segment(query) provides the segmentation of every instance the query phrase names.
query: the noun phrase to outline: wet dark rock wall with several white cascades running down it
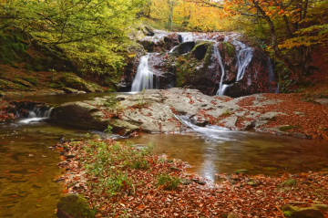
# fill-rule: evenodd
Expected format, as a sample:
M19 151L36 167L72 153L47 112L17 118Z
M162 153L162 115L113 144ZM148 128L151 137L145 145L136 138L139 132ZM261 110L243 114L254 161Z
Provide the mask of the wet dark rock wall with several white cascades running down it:
M178 36L178 46L176 36ZM196 65L198 66L194 67L197 72L204 72L205 79L201 78L201 80L200 78L196 78L196 80L200 79L200 83L195 82L192 79L187 79L187 83L185 84L186 86L189 86L189 83L192 83L190 86L199 88L201 91L204 91L204 93L209 95L229 95L231 97L239 97L242 95L259 92L277 92L277 82L274 79L270 59L269 61L263 60L263 58L265 59L267 56L263 54L261 57L259 49L249 47L241 42L239 40L241 36L238 34L174 33L173 35L173 33L159 31L158 33L155 33L155 36L147 37L150 37L151 42L154 42L154 45L158 45L159 47L163 47L163 45L174 47L171 47L170 50L167 51L166 57L164 58L159 58L159 55L154 56L154 54L159 53L149 53L147 56L141 57L137 75L133 80L131 88L132 92L138 92L144 88L159 88L159 78L161 79L160 88L169 88L169 82L176 79L174 76L177 73L175 72L177 66L175 66L174 63L169 63L173 60L173 58L167 59L167 57L179 56L181 58L178 58L178 60L183 61L185 58L182 56L190 53L190 51L193 52L190 56L192 58L195 54L201 56L201 52L206 53L206 45L210 45L206 42L212 42L211 46L213 46L209 70L204 67L204 60L202 60L202 62L196 60ZM222 41L226 43L223 45ZM191 42L194 42L194 45L190 46ZM220 46L222 47L218 47L220 43ZM201 48L201 44L204 44L205 46ZM190 47L194 47L194 49ZM233 47L234 51L232 54L230 53L230 49L233 49ZM178 48L179 52L177 52ZM220 51L221 49L219 48L222 48L222 51ZM186 52L184 52L185 50ZM220 52L223 53L220 54ZM230 57L230 54L232 54L233 57ZM224 59L222 59L222 57L224 57ZM200 60L200 57L197 58ZM253 63L255 60L257 63ZM177 61L177 59L173 61ZM186 63L189 62L186 61ZM267 65L269 65L269 67L267 67ZM169 75L169 73L171 73L171 75ZM154 75L156 79L153 78ZM193 72L191 75L193 75ZM197 77L199 77L199 75ZM214 87L207 88L207 85L203 85L206 79L209 79L211 84L216 84L215 86L219 87L216 93L213 93L215 90Z

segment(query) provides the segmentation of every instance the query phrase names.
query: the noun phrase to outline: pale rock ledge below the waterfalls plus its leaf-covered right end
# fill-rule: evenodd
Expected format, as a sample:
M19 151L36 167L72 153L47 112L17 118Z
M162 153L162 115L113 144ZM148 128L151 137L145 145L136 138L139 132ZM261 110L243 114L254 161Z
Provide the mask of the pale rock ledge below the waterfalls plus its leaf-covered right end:
M140 130L187 130L191 125L181 120L179 116L183 115L190 124L200 127L216 125L230 130L320 138L327 132L325 114L327 104L305 102L298 95L254 94L231 99L207 96L196 89L170 88L65 103L53 110L51 121L96 130L110 125L115 132L128 135ZM310 120L315 123L307 132Z

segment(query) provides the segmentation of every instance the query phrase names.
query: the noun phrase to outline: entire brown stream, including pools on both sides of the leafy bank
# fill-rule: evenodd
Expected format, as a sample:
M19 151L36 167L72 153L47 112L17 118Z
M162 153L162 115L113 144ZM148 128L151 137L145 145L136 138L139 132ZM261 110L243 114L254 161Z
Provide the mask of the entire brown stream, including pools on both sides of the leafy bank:
M28 97L48 104L92 99L109 95L90 93ZM16 99L18 100L18 99ZM186 123L186 125L189 125ZM328 171L328 146L324 140L305 140L259 132L242 132L209 126L181 134L142 134L130 140L139 146L155 143L154 154L187 161L196 172L215 181L215 173L241 169L251 174L279 175L284 172ZM56 217L56 202L63 183L55 182L62 171L57 151L60 138L86 139L92 131L36 122L0 125L0 217Z

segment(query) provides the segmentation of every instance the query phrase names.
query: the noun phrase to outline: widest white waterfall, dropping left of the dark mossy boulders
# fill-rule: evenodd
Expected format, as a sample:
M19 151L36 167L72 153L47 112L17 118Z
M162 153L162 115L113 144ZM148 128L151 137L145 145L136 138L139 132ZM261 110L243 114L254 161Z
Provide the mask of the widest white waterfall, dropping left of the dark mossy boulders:
M149 54L140 58L137 75L133 79L132 92L141 91L143 88L153 88L153 73L149 70Z

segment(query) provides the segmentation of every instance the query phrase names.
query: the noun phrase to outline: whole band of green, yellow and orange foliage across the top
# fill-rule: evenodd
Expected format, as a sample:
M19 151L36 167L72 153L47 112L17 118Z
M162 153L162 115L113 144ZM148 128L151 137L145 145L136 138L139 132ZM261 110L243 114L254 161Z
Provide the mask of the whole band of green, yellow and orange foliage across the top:
M118 81L139 20L169 31L243 33L297 81L312 73L313 48L328 42L328 0L0 0L0 31L16 28L60 48L83 75L113 72L108 83Z

